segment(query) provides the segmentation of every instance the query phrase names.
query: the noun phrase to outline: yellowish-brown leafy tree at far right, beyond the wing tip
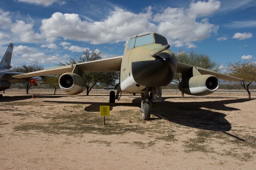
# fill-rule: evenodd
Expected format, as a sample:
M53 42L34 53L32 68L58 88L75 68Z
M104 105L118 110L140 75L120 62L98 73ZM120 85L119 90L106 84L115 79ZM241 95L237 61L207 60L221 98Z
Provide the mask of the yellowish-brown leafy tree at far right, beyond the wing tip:
M228 63L227 71L229 75L241 78L243 81L240 82L241 86L248 93L248 98L251 98L251 93L249 91L249 86L253 82L256 82L256 63L255 62L237 62Z

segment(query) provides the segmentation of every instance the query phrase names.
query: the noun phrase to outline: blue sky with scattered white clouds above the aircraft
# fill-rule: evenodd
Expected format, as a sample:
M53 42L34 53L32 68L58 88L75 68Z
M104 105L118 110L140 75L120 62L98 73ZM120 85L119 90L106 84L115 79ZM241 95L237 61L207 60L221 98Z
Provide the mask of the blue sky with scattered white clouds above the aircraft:
M55 67L96 49L123 55L141 32L165 36L174 53L191 50L226 63L256 62L256 0L0 0L0 56L14 43L12 66Z

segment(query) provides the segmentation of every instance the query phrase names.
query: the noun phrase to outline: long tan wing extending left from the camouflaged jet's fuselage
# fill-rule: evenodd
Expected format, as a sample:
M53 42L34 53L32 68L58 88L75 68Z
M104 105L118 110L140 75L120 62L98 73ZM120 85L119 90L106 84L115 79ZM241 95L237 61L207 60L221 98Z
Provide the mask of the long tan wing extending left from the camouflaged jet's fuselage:
M67 65L55 67L51 69L39 70L36 72L15 75L14 78L28 78L34 76L57 75L72 72L77 66L80 71L84 72L117 72L120 71L123 56L111 57L107 59L93 60L90 62L78 63L74 65Z

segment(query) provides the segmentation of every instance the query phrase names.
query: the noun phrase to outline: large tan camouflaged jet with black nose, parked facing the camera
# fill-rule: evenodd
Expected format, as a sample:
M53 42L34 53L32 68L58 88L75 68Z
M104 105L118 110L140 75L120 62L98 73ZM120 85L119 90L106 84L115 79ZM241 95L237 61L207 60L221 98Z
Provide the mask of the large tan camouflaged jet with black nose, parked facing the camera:
M119 92L140 93L144 120L150 120L151 104L161 101L161 89L172 82L176 73L182 73L179 90L189 95L208 95L215 92L219 87L219 79L242 81L240 78L177 62L175 54L169 50L169 47L166 38L162 35L145 32L134 35L127 41L123 56L55 67L13 77L62 74L59 78L61 89L67 94L79 94L86 88L86 82L81 76L82 72L119 71L120 83L117 95L114 97L118 98Z

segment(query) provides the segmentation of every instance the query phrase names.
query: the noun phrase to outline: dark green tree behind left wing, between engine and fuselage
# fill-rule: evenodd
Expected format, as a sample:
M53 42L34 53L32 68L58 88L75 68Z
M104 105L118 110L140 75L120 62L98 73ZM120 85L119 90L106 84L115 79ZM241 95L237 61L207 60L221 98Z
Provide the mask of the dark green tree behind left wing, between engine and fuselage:
M65 66L68 64L99 60L101 59L101 52L98 52L96 49L93 51L86 50L83 54L80 54L77 57L67 59L64 62L59 62L58 65ZM89 95L89 92L97 83L101 85L114 85L115 81L118 79L118 76L118 72L84 72L83 78L86 81L86 95Z

